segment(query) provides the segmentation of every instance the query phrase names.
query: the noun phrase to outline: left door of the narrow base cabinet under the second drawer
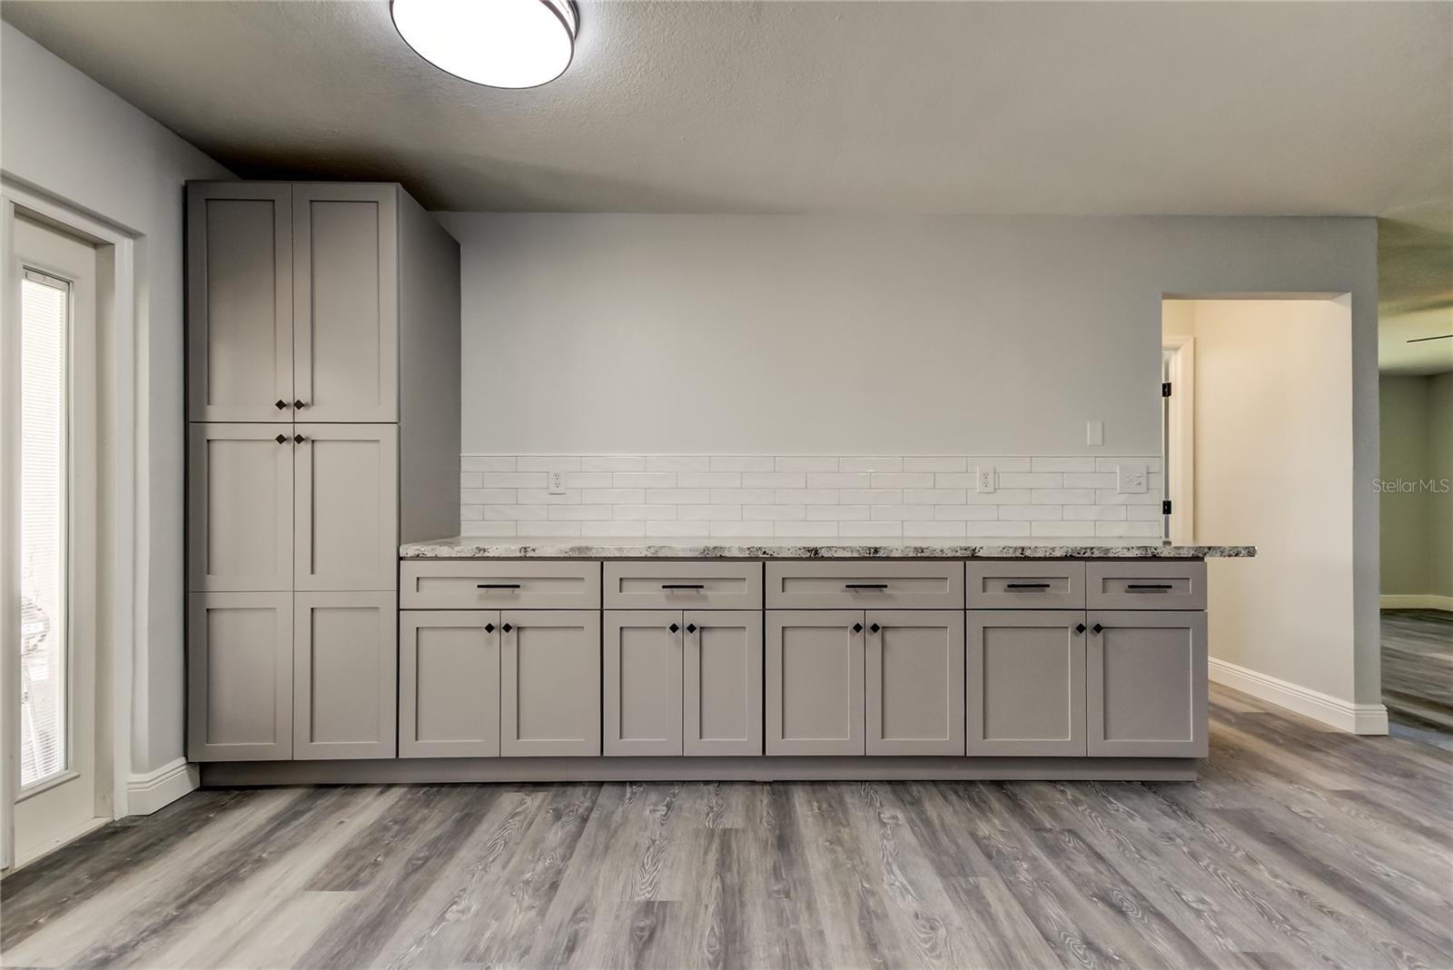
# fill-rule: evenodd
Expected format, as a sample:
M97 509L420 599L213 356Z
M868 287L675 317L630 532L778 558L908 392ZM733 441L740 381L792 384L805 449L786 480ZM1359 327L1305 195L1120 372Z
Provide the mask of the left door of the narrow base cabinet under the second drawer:
M681 614L606 610L604 617L604 754L681 754Z

